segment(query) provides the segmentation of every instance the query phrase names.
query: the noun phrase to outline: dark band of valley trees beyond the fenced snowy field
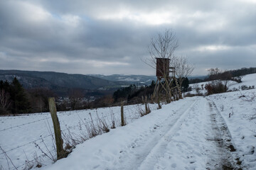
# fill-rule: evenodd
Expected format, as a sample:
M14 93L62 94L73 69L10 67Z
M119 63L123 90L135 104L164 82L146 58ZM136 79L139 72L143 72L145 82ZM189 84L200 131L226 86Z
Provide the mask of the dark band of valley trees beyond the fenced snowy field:
M188 84L188 78L183 78L181 90L189 91ZM142 103L143 97L151 98L155 86L155 81L152 81L149 86L131 84L117 89L112 94L96 98L95 101L84 101L83 91L70 89L69 96L56 100L56 106L58 111L70 111L115 106L120 101L127 101L129 104ZM0 115L48 112L49 97L57 98L49 89L24 89L16 78L11 82L0 81Z

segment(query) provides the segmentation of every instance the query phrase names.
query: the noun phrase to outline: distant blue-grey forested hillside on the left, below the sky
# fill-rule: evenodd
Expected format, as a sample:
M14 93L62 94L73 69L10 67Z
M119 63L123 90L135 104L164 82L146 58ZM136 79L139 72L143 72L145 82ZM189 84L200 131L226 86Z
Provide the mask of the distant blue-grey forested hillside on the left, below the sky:
M46 87L48 89L80 88L92 90L122 85L120 82L82 74L0 70L0 80L12 81L14 77L16 77L26 89Z

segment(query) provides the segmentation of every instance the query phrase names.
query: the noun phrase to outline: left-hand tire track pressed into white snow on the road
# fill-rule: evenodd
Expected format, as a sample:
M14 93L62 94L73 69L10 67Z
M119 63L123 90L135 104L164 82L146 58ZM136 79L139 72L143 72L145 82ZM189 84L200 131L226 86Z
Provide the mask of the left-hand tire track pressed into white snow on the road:
M157 157L160 154L164 154L171 137L180 128L187 113L193 108L196 102L192 101L181 106L179 108L181 113L176 113L178 116L170 116L170 119L166 119L160 128L156 128L154 136L145 137L140 141L135 140L132 144L131 151L135 153L135 157L127 158L128 160L121 162L122 167L119 169L154 169L154 165L158 162Z

